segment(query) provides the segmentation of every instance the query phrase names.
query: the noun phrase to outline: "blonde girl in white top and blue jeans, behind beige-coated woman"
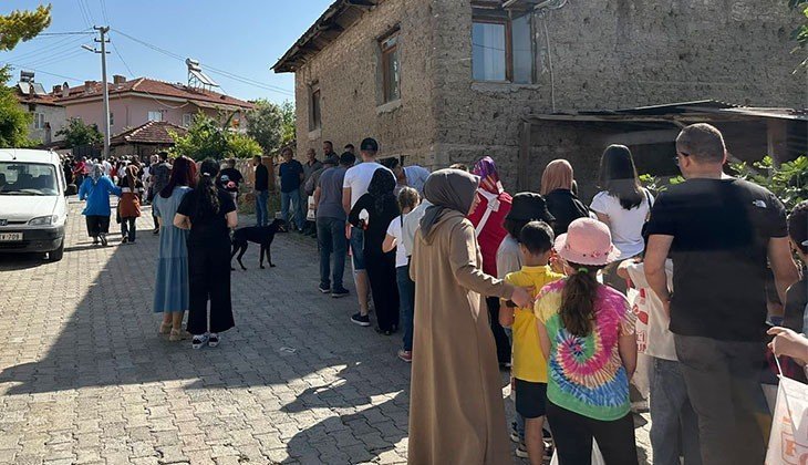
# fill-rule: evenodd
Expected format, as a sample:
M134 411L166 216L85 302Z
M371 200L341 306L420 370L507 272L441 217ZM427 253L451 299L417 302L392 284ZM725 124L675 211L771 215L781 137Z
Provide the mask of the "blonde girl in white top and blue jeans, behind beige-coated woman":
M398 208L401 215L390 221L387 236L382 249L389 252L395 249L395 276L398 283L398 307L401 309L402 328L404 329L404 347L398 351L398 358L407 363L413 361L413 317L415 310L415 282L410 279L410 250L404 248L402 226L410 211L418 206L418 192L412 187L404 187L398 193Z

